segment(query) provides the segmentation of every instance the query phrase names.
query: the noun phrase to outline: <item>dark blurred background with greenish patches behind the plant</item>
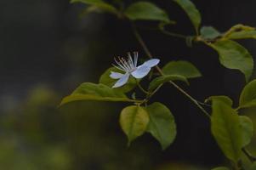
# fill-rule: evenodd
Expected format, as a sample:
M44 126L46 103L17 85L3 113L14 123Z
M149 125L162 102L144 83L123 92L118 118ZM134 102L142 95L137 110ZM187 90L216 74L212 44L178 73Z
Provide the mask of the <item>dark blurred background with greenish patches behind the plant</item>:
M176 4L152 2L177 21L168 29L193 34ZM204 26L219 31L239 23L256 26L253 0L193 2ZM176 119L178 135L167 150L148 134L127 147L118 123L124 104L80 102L57 108L82 82L98 82L113 57L139 51L145 58L126 21L111 14L81 16L85 7L68 0L0 0L0 169L204 170L229 164L210 135L208 119L169 86L153 99L168 105ZM186 59L202 72L190 87L180 84L196 99L225 94L237 103L244 77L219 65L212 49L202 43L188 48L182 39L146 29L152 27L148 22L137 24L161 66ZM256 56L255 41L242 44ZM246 113L255 124L255 111ZM256 137L249 146L254 154L255 146Z

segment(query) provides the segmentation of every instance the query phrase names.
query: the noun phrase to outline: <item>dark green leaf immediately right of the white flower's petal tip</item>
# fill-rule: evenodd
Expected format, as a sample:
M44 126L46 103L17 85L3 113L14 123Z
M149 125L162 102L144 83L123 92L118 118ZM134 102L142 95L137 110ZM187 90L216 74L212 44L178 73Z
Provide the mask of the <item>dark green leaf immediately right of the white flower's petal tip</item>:
M184 60L168 62L168 64L162 68L162 72L165 75L179 75L186 78L202 77L202 74L196 69L196 66Z

